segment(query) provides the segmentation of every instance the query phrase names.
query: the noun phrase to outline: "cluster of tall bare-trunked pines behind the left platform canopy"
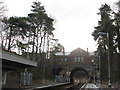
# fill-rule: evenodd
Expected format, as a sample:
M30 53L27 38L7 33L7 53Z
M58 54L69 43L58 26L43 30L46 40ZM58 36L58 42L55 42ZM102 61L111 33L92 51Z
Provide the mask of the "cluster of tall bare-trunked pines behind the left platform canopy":
M39 1L33 2L31 13L27 17L4 18L2 28L2 47L8 51L17 50L20 55L30 55L38 60L41 53L50 55L54 48L54 19L48 16ZM56 46L57 47L57 46ZM59 46L58 46L59 47ZM41 54L42 55L42 54Z

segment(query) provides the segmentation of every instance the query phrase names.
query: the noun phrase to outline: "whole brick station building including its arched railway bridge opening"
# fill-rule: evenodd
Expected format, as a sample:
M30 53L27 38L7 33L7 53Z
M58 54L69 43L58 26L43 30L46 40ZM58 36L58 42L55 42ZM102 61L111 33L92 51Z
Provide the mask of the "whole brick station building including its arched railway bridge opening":
M67 77L70 82L78 82L81 79L89 80L94 70L98 70L98 58L90 55L88 51L77 48L70 53L57 53L55 58L56 76ZM86 80L86 79L85 79ZM85 81L82 80L82 81Z

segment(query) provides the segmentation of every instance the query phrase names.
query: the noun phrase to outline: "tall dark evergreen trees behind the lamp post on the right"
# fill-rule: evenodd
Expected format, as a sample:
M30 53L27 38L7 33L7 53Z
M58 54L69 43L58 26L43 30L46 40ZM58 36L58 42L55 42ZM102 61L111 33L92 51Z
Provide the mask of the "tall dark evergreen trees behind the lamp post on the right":
M101 5L99 8L101 19L98 21L98 26L94 27L95 30L92 33L94 40L97 42L98 48L97 53L100 56L100 67L101 67L101 79L108 80L108 52L110 55L110 67L111 67L111 77L114 81L118 77L118 73L114 73L113 65L114 59L113 57L120 53L120 27L118 24L118 15L115 17L116 14L113 12L111 7L107 4ZM118 14L118 13L117 13ZM117 23L116 23L117 22ZM101 35L100 33L104 33ZM107 37L109 34L109 37ZM116 79L117 80L117 79Z

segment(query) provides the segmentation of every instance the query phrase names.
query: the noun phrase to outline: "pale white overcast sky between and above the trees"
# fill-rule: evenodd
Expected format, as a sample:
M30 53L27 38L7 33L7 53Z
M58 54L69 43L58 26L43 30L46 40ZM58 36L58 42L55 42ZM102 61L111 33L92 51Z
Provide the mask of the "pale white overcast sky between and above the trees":
M35 0L4 0L8 17L27 16ZM95 51L97 46L92 32L100 16L97 15L102 4L113 7L117 0L37 0L45 7L46 13L56 20L55 38L59 39L66 52L76 48Z

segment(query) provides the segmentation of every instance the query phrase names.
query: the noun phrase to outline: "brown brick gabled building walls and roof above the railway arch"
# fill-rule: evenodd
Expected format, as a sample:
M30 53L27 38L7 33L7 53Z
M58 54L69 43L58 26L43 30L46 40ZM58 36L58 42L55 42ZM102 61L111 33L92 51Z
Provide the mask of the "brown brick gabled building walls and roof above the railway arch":
M70 53L56 53L55 55L55 65L56 67L63 68L67 72L68 69L72 72L75 68L82 68L90 74L91 68L98 68L98 57L96 55L91 55L88 50L85 51L81 48L77 48ZM58 70L56 70L58 71Z

